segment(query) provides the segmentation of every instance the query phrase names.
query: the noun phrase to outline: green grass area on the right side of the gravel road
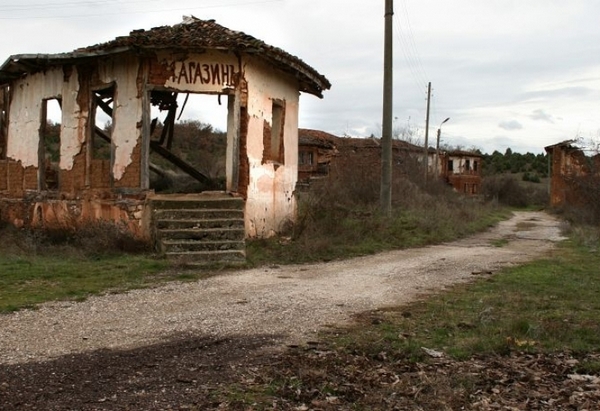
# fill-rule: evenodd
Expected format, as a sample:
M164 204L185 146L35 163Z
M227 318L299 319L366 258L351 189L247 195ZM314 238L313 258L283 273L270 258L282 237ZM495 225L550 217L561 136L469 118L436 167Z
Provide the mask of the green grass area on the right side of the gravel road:
M425 357L421 347L456 359L514 351L597 352L599 266L599 253L567 242L552 258L385 311L378 325L355 329L337 344L413 360Z

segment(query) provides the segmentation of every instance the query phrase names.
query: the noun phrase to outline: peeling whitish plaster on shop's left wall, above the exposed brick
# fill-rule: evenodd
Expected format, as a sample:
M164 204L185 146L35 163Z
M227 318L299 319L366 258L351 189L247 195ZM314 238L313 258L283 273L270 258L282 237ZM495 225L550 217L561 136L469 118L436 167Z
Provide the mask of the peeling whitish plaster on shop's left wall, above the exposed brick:
M138 66L131 58L97 60L97 71L90 76L90 89L116 84L113 114L115 158L113 177L120 180L132 163L134 149L141 142L142 99L138 91ZM38 167L39 130L43 101L62 100L61 170L71 170L75 158L86 143L90 116L90 96L82 96L78 67L63 71L62 67L29 75L14 83L10 107L7 157L20 161L23 167ZM92 80L93 79L93 80ZM85 104L82 104L85 103ZM102 126L102 125L98 125Z

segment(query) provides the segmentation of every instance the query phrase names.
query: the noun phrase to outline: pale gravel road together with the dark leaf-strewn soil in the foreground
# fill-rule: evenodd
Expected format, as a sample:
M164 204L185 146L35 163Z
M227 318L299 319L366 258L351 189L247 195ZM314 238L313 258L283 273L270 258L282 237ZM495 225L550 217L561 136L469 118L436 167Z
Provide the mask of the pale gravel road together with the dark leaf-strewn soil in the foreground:
M317 340L316 331L328 326L368 324L377 321L378 308L393 310L550 253L561 239L558 225L544 213L517 213L487 233L441 246L235 272L204 280L215 282L200 289L183 285L185 293L172 285L131 293L126 301L107 295L1 316L0 409L599 409L600 379L575 373L580 361L598 358L516 355L412 363L340 353ZM493 247L497 240L506 244ZM240 309L219 307L207 292ZM189 293L193 303L182 297ZM163 312L152 300L149 309L127 314L129 299L148 304L151 297L170 303ZM210 311L210 321L190 317L208 305L221 313ZM177 327L160 325L174 315L183 319ZM146 317L155 320L152 330ZM98 334L99 324L104 333ZM209 332L212 324L218 332ZM294 384L299 377L302 386ZM272 392L253 394L257 387Z

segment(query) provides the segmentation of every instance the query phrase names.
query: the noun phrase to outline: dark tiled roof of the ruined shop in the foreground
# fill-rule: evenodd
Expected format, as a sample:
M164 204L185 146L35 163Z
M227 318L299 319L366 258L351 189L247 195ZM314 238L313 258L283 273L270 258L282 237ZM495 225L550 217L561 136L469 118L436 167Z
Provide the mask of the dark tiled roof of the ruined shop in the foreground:
M251 54L293 75L299 82L300 91L322 97L323 91L331 88L331 84L325 76L298 57L241 31L223 27L214 20L200 20L195 17L184 17L183 22L174 26L134 30L128 36L80 48L71 53L11 56L0 67L0 84L6 84L28 73L35 73L51 66L83 58L125 51L144 52L159 49L185 51L210 49Z

